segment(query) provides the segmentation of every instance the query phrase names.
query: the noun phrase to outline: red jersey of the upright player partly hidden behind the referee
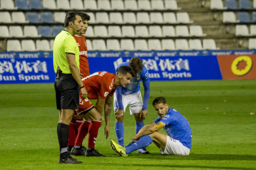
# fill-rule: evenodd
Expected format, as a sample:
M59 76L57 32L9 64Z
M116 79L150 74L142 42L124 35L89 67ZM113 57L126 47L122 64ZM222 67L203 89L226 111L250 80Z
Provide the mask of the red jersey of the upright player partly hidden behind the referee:
M89 62L87 58L87 43L84 35L78 36L74 35L75 41L77 41L77 46L79 46L79 62L80 62L80 73L87 77L90 75L89 72Z

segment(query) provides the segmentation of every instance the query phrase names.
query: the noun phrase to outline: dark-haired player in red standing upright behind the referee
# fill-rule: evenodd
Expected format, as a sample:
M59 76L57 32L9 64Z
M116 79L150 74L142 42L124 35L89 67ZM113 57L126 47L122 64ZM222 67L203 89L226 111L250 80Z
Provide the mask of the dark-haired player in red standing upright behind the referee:
M78 34L74 35L74 38L75 41L77 41L77 46L79 47L80 76L81 78L85 78L90 75L90 72L87 58L87 42L83 34L85 34L87 31L90 16L85 12L79 12L79 15L82 18L83 27ZM77 116L77 118L73 116L72 120L70 121L69 142L67 147L68 152L70 152L75 145L75 137L77 136L78 129L82 123L83 118L81 116ZM85 150L85 148L83 148L83 150Z

